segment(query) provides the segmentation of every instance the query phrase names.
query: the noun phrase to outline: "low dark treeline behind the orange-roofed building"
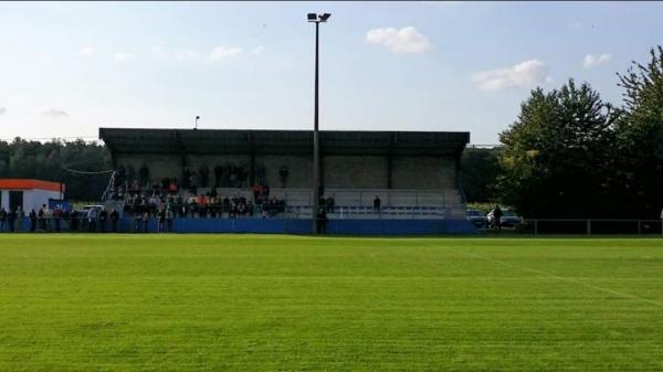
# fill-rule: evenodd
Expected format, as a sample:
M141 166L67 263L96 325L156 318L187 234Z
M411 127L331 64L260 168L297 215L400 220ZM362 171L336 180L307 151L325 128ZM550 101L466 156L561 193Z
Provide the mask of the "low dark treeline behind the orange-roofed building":
M0 140L0 178L64 182L70 200L99 200L110 174L77 171L97 172L110 168L110 155L101 144L82 139L40 142L18 137L11 142Z

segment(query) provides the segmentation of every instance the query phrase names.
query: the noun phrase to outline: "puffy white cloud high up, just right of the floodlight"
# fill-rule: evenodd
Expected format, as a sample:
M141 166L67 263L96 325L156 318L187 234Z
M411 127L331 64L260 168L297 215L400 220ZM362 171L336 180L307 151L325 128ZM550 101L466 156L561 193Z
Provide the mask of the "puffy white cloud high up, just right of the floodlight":
M402 29L371 29L366 41L387 47L393 53L422 54L429 51L431 43L417 29L409 25Z

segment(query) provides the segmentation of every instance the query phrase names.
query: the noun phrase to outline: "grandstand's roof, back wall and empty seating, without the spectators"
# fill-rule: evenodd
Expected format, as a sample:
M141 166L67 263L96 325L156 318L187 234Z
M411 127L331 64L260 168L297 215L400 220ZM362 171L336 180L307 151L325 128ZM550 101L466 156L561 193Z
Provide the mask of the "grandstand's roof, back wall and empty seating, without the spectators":
M220 199L249 201L252 188L263 183L269 198L285 204L277 217L312 219L311 131L101 128L99 138L116 169L154 183L177 179L182 199L191 191L185 184L189 178L196 194L213 190ZM464 221L457 172L469 140L469 132L320 131L324 199L333 201L326 205L329 220ZM228 169L238 176L229 179ZM373 209L376 196L379 210Z

